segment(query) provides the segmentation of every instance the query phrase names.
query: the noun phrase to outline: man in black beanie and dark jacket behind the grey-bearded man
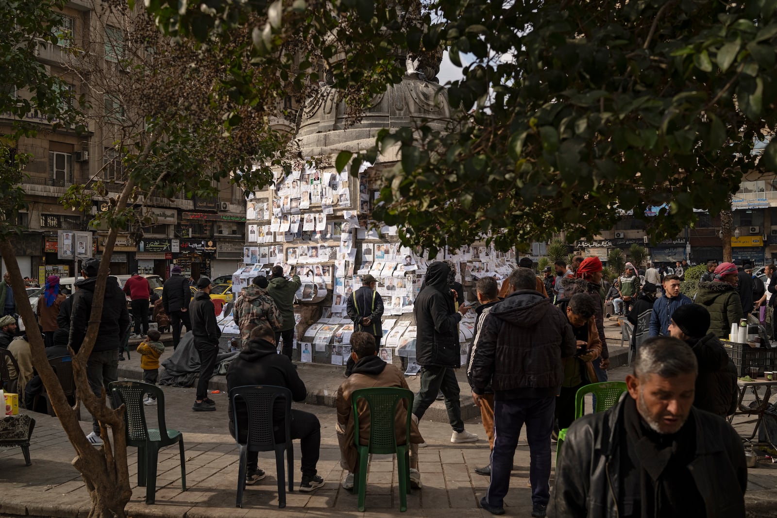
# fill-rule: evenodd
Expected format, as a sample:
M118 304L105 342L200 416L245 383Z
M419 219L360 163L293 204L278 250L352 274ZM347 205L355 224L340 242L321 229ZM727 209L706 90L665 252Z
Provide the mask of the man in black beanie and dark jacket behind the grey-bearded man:
M726 417L737 408L737 367L708 329L709 311L699 304L686 304L672 313L669 334L691 346L699 363L693 405Z

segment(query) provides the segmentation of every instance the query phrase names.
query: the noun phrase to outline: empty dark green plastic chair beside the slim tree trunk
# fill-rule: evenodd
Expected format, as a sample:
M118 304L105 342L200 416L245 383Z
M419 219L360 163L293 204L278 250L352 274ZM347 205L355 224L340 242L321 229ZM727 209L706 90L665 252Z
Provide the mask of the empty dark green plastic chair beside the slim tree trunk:
M155 385L140 381L113 381L108 385L114 407L124 403L127 419L127 446L138 447L138 485L146 486L146 503L156 501L156 464L159 448L178 443L181 450L181 487L186 491L186 457L183 433L165 426L165 393ZM143 396L156 398L159 428L148 428Z

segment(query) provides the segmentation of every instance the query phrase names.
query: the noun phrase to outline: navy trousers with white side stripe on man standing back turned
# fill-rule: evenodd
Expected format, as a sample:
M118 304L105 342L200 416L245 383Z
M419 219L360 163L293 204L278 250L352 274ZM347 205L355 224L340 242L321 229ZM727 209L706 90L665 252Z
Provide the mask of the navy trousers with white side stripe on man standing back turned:
M550 499L550 433L556 396L549 398L505 399L493 404L493 450L491 482L486 502L501 507L510 488L510 471L521 428L526 425L529 443L531 503L547 506Z

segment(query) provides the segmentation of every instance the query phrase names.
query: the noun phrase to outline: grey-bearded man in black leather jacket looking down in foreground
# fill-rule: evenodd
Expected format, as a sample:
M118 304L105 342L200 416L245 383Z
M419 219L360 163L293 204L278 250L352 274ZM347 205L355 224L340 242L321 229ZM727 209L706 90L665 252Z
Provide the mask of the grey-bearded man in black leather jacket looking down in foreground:
M697 371L684 342L643 342L629 393L566 433L549 516L744 516L742 441L693 406Z

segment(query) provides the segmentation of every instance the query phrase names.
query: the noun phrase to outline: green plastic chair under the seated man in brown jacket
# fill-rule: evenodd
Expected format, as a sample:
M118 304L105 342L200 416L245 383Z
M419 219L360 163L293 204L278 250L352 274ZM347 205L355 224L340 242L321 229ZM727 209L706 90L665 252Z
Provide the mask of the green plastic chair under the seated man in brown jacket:
M370 440L368 445L359 441L359 400L364 399L370 412ZM397 405L406 402L405 444L396 443L394 420ZM364 495L367 489L369 454L396 454L399 471L399 511L407 510L407 493L410 491L410 408L413 408L413 392L406 388L360 388L351 395L351 412L354 412L354 442L358 452L359 471L354 476L354 492L359 494L359 511L364 512ZM364 405L362 405L364 408Z

